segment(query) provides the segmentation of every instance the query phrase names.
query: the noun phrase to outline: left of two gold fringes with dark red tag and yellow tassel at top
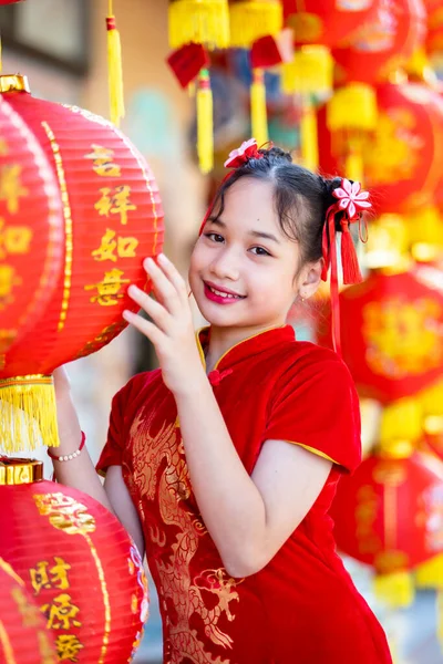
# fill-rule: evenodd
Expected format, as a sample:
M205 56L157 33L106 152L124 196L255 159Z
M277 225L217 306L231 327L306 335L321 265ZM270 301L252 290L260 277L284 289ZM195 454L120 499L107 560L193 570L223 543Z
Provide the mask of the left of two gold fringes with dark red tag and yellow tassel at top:
M168 20L175 50L169 65L182 86L197 82L197 154L207 174L214 167L214 105L206 49L229 45L228 0L169 0Z

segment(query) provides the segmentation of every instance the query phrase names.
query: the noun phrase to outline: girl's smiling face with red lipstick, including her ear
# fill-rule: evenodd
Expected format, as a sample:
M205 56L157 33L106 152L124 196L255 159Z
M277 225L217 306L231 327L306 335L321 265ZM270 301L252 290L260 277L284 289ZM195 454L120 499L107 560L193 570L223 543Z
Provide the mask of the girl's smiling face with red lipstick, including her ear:
M202 314L216 328L282 325L297 294L309 297L320 280L320 261L299 270L299 255L298 242L280 228L271 183L240 178L190 259L189 283Z

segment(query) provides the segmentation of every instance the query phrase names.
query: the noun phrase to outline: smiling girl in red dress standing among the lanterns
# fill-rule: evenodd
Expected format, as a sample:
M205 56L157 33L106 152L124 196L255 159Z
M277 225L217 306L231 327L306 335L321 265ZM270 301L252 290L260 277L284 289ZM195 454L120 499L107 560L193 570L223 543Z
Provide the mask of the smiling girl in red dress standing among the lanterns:
M332 245L322 245L326 219L347 228L347 203L332 195L341 180L290 162L254 142L228 160L192 256L209 322L197 338L186 283L164 256L145 262L155 300L130 288L152 322L124 317L161 369L114 397L104 489L85 450L54 460L58 479L112 509L146 552L165 663L391 662L328 517L341 474L360 461L352 380L336 353L285 324L318 288ZM51 455L72 456L81 430L62 371L55 385L61 448Z

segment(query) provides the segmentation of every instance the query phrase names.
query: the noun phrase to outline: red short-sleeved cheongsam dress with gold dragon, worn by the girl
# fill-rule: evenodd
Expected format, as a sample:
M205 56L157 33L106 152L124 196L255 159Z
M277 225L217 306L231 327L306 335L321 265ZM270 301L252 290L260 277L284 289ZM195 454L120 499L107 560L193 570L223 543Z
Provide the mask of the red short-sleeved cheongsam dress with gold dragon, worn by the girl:
M208 334L199 333L200 350ZM159 595L165 664L390 663L383 630L336 553L328 516L340 475L352 471L361 454L347 367L331 351L296 341L286 325L235 345L209 381L249 474L267 439L334 464L267 567L233 579L195 500L174 396L161 371L133 377L116 394L97 467L122 466L138 511Z

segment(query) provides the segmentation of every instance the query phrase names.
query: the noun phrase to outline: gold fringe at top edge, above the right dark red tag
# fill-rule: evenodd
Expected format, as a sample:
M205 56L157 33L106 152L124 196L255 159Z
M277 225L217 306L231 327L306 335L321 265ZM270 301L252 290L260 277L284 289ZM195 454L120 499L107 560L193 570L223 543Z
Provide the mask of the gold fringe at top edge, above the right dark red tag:
M229 6L230 45L250 49L260 37L277 35L284 27L282 6L278 0L245 0Z

